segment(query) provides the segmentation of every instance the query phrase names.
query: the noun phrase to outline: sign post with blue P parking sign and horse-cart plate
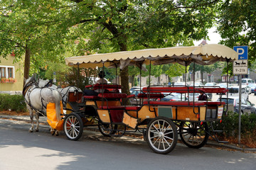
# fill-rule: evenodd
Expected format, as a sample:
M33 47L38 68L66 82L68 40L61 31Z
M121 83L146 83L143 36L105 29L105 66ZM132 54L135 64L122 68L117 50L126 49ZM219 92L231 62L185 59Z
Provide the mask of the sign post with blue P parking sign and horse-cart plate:
M239 119L238 119L238 143L241 141L241 89L242 74L248 74L248 46L235 46L233 48L238 52L238 60L233 62L233 74L239 74Z

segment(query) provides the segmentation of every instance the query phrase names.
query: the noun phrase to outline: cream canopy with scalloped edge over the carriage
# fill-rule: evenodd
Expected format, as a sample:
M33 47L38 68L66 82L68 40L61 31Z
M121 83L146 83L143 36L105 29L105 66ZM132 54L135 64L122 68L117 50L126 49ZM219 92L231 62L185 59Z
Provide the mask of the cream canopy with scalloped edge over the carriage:
M198 64L209 65L221 61L238 60L238 53L225 45L203 45L193 47L166 47L135 51L112 52L95 55L84 55L77 57L68 57L65 63L69 66L79 64L79 67L120 67L127 65L141 64L168 64L177 62L187 66L195 61Z

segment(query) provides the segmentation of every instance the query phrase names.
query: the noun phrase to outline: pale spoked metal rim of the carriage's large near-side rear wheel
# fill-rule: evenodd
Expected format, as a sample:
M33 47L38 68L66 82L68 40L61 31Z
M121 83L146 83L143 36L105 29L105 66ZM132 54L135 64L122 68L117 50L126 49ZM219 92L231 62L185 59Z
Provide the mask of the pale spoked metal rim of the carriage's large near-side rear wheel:
M151 147L158 152L164 152L174 145L174 130L166 120L155 120L151 123L147 135Z

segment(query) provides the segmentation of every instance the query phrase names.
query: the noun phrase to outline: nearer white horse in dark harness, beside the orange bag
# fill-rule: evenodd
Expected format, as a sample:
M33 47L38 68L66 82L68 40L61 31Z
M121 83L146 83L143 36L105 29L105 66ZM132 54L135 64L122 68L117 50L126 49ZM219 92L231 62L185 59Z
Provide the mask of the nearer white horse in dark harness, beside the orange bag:
M42 86L42 85L41 85ZM56 118L60 120L60 101L62 96L57 89L52 87L39 87L36 82L35 75L30 79L26 80L26 84L23 89L23 96L26 101L28 111L31 118L31 128L28 132L33 132L33 111L36 112L36 132L39 128L39 113L46 115L46 105L47 103L55 103ZM58 130L50 129L53 135L58 135Z

